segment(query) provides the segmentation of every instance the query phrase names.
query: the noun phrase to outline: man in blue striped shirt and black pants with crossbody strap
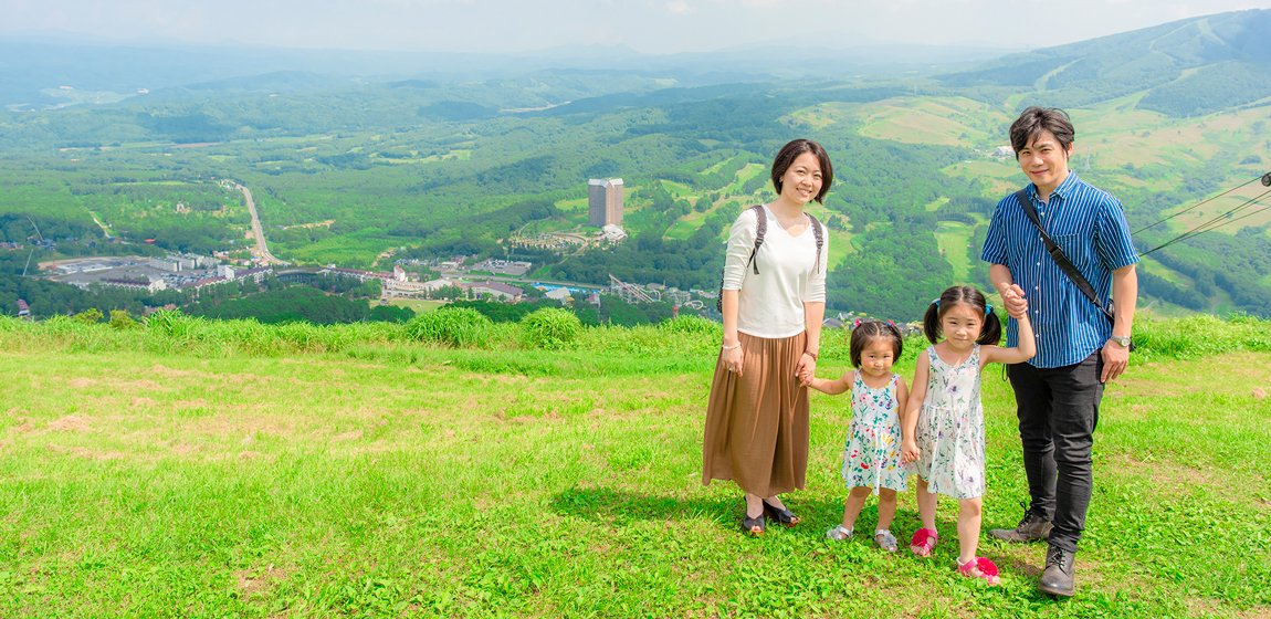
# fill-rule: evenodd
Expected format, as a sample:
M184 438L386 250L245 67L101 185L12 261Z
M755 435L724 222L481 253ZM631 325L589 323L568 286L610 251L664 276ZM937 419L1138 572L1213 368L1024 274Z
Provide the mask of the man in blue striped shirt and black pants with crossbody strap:
M1073 561L1091 502L1091 447L1103 384L1129 365L1139 296L1139 254L1121 203L1069 169L1074 137L1073 123L1060 109L1031 107L1010 126L1016 160L1031 180L1024 193L1038 221L1104 306L1111 287L1115 320L1050 257L1016 194L998 202L981 254L1007 309L1022 310L1027 300L1037 338L1037 356L1008 369L1031 503L1017 527L989 535L1049 540L1038 588L1065 597L1077 590ZM1010 320L1007 346L1017 346L1017 337Z

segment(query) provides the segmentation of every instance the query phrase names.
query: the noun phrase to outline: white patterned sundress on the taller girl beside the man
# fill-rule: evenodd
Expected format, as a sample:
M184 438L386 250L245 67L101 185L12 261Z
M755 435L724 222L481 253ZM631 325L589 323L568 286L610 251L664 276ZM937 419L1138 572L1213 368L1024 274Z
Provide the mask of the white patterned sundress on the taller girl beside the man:
M928 491L955 498L984 496L984 407L980 404L980 346L951 366L927 348L930 371L914 439L916 473Z

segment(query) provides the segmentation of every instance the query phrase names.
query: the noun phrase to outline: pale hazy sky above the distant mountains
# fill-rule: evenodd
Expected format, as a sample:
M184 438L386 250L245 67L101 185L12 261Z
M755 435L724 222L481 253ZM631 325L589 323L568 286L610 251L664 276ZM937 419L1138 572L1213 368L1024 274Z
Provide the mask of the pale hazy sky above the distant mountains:
M0 37L491 53L801 42L1033 50L1242 9L1271 0L0 0Z

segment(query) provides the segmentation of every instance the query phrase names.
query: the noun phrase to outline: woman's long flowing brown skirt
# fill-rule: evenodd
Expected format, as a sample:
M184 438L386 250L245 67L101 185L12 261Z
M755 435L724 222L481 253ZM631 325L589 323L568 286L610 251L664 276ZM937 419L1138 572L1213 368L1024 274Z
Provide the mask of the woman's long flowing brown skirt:
M702 484L732 479L744 492L770 497L802 489L807 474L808 399L794 371L807 333L782 339L738 334L741 376L716 360Z

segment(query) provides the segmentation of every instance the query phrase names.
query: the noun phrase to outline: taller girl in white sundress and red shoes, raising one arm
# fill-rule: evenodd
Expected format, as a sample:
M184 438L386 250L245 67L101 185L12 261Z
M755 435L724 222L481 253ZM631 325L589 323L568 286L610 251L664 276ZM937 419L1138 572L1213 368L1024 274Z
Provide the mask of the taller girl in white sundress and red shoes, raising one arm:
M1014 292L1007 292L1014 294ZM984 408L980 371L985 364L1022 364L1037 353L1027 304L1012 318L1019 325L1019 346L1002 348L1002 323L984 295L953 286L932 301L923 330L933 343L918 356L914 390L904 416L904 460L914 463L918 514L923 527L910 550L930 555L935 548L935 498L958 500L958 572L998 583L998 566L976 557L984 496ZM943 336L943 339L941 337Z

